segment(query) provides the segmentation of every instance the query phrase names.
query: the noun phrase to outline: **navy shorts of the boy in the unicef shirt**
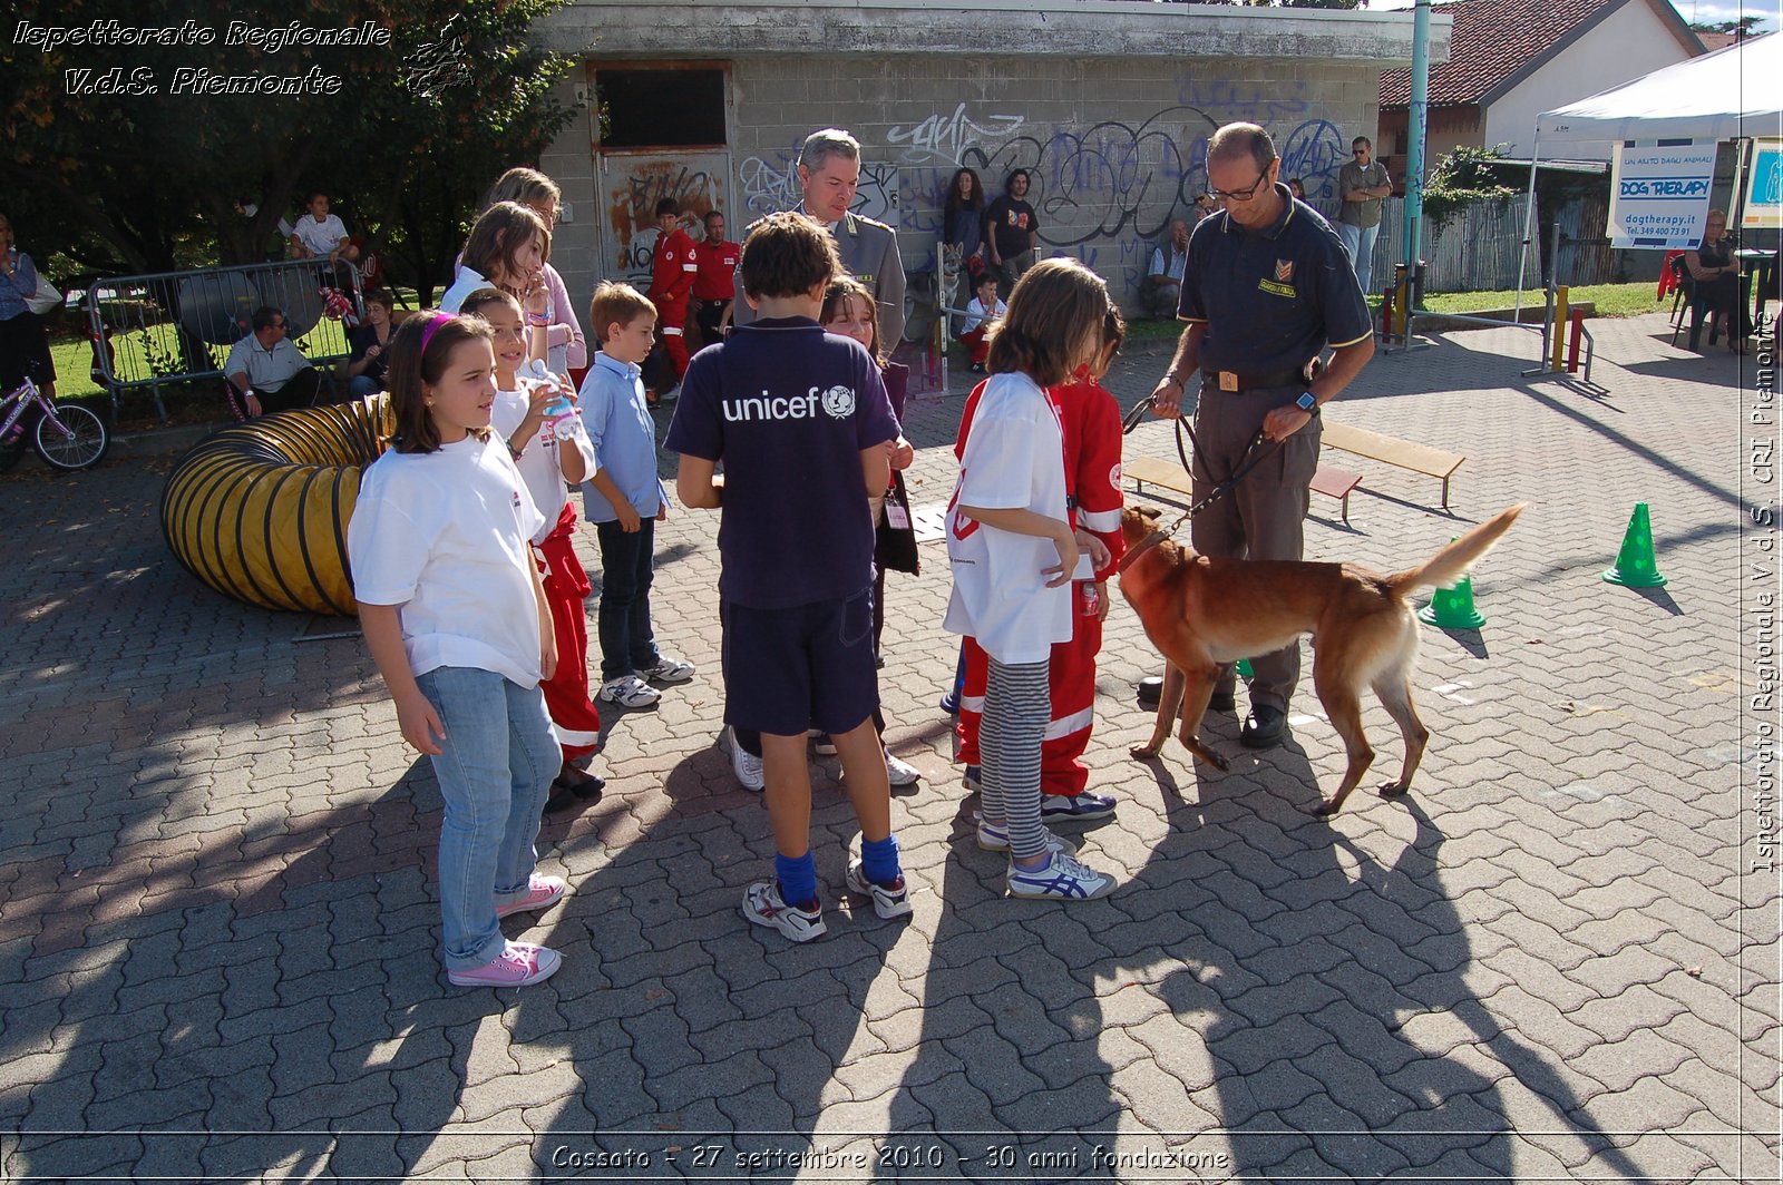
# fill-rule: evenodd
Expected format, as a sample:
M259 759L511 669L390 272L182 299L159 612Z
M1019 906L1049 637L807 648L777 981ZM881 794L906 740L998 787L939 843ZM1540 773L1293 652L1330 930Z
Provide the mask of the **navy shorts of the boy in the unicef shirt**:
M788 609L724 602L724 722L770 736L849 732L879 707L874 590Z

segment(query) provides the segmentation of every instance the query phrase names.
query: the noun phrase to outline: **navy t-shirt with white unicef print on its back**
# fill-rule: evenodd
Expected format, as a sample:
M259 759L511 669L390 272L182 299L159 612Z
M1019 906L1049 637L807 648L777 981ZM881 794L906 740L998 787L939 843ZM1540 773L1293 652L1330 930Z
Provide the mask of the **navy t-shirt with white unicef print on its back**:
M872 356L809 317L735 326L699 351L663 447L724 462L719 595L786 609L872 584L861 453L897 435Z

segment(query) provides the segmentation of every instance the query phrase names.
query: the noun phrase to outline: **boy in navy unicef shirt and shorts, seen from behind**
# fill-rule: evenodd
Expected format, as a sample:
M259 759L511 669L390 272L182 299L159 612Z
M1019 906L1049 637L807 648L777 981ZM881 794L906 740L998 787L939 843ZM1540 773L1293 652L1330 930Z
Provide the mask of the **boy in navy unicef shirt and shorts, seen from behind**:
M749 886L744 916L795 943L824 934L811 859L806 729L836 741L861 859L847 886L881 918L911 912L892 836L892 788L874 729L874 520L899 435L879 367L817 323L842 269L802 214L765 217L744 242L744 299L758 321L694 358L663 447L676 492L722 510L719 602L724 722L761 732L776 877ZM717 474L724 462L724 474Z

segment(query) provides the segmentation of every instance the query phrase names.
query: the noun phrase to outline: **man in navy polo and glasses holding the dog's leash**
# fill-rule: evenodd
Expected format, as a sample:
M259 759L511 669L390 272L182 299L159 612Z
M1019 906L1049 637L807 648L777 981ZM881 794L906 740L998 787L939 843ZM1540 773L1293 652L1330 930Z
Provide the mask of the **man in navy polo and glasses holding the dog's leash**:
M1269 134L1228 123L1207 144L1207 182L1221 212L1189 237L1177 317L1187 321L1177 356L1152 392L1155 415L1173 417L1189 376L1202 372L1195 412L1195 499L1245 463L1252 440L1280 440L1191 526L1195 551L1237 560L1300 560L1302 520L1319 465L1319 405L1337 397L1375 355L1362 287L1337 232L1278 184L1282 162ZM1334 353L1307 383L1309 364ZM1300 642L1252 658L1250 748L1282 741L1287 702L1300 679ZM1220 672L1211 709L1234 707L1234 672Z

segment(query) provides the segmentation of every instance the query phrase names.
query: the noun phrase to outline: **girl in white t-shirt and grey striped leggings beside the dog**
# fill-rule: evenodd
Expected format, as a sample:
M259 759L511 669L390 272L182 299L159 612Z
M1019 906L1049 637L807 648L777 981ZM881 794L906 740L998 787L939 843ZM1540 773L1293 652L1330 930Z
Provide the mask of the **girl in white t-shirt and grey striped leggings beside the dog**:
M970 634L990 656L979 845L1009 850L1011 896L1084 900L1114 887L1039 821L1052 643L1072 636L1080 552L1097 568L1107 563L1102 542L1066 519L1064 438L1045 387L1097 356L1107 310L1107 287L1077 260L1045 260L1016 282L990 335L991 378L947 513L954 593L943 625Z

